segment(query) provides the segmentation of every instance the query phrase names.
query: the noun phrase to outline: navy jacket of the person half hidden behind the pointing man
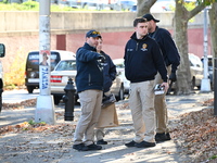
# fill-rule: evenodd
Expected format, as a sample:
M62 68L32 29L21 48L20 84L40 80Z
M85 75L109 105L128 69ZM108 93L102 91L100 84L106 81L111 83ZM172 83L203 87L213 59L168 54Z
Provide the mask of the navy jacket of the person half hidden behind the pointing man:
M116 66L113 63L110 55L107 55L103 51L101 51L100 53L105 57L105 63L103 66L103 77L104 77L103 78L104 79L104 84L103 84L104 90L103 91L107 92L107 91L110 91L113 80L116 78L117 72L116 72Z

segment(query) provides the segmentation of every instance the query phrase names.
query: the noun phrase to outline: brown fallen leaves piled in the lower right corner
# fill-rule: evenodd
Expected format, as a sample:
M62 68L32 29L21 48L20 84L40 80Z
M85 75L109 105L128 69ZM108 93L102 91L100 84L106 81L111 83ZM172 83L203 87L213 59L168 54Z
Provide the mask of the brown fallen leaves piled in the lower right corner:
M186 113L180 115L177 123L171 134L183 148L183 154L193 155L194 162L217 154L217 117L214 116L214 109Z

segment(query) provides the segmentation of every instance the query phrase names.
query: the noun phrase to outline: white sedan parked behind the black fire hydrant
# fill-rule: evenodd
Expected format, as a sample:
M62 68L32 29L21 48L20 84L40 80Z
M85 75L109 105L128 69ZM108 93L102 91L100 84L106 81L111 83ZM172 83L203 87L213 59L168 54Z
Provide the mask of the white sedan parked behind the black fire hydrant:
M63 60L51 72L51 95L53 95L54 104L59 104L65 93L64 88L67 85L68 78L72 78L75 85L76 74L76 60ZM124 87L118 76L112 85L111 92L115 95L116 100L124 99ZM77 100L78 96L76 93L75 102Z

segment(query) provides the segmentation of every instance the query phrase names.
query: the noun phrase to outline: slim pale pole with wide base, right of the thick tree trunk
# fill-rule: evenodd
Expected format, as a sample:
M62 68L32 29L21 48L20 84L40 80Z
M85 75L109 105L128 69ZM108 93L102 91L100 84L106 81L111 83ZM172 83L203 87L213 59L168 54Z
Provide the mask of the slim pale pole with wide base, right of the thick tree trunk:
M208 78L208 39L207 39L207 8L204 9L204 77L201 82L201 91L210 91L210 79Z

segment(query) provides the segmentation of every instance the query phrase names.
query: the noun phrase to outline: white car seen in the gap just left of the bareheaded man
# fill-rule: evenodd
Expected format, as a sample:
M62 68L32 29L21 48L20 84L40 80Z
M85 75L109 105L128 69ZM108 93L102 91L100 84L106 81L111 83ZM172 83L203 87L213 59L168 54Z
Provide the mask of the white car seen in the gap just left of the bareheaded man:
M124 59L114 59L113 63L116 65L117 74L122 79L125 93L129 93L130 82L125 77Z

